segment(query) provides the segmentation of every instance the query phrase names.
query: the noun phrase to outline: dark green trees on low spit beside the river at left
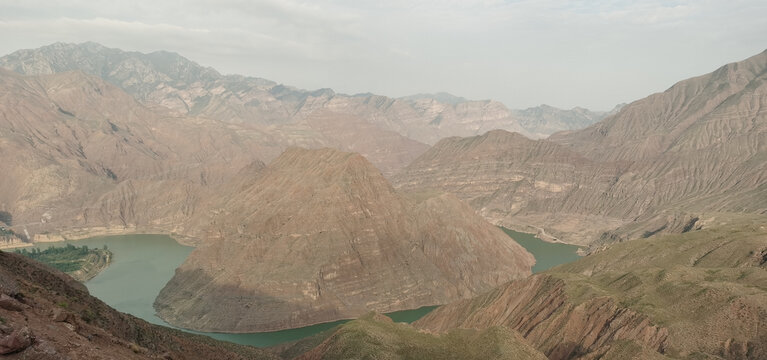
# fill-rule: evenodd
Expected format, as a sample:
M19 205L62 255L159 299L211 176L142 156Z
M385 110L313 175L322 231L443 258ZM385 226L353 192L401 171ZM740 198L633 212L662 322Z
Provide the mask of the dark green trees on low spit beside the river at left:
M111 258L112 253L106 249L89 249L87 246L77 247L67 244L64 247L49 247L45 250L33 248L21 249L16 253L35 259L65 273L75 273L91 267L94 263L103 263Z

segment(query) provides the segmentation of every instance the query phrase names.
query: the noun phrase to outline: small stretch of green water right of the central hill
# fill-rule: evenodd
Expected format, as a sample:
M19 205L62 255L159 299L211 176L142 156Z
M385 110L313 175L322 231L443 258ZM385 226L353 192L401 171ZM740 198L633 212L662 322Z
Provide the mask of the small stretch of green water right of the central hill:
M522 245L522 247L533 254L535 257L533 274L551 269L557 265L573 262L580 258L577 253L578 246L550 243L535 237L533 234L522 233L503 227L501 229L519 245Z

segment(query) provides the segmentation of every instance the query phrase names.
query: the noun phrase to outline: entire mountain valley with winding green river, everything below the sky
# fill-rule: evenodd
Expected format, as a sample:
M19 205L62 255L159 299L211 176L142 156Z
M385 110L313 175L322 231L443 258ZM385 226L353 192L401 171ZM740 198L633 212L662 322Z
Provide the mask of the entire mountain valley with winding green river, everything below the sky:
M19 50L0 247L66 248L0 252L0 352L767 358L765 109L767 51L602 112Z

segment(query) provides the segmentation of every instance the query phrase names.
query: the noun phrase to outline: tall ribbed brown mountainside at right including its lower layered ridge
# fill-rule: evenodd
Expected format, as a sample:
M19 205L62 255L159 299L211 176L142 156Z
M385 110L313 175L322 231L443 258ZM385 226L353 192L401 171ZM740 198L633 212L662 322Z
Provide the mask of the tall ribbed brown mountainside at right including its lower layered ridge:
M394 182L580 244L689 230L711 212L765 213L766 70L764 52L545 141L446 139Z

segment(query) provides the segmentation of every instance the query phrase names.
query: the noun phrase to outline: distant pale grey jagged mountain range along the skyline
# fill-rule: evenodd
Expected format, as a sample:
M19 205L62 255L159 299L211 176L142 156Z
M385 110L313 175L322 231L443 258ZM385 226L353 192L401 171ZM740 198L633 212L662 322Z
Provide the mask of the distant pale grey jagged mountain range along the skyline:
M0 58L0 67L28 75L80 70L117 85L144 105L167 108L175 115L254 126L279 139L281 150L287 146L334 144L334 139L325 137L327 133L313 131L311 124L304 121L314 111L351 116L356 120L349 123L335 120L338 123L335 128L351 128L369 137L381 131L390 132L386 137L398 134L421 143L402 147L397 143L405 140L395 139L394 143L386 144L384 151L408 150L408 157L396 162L392 173L423 152L423 144L434 144L443 137L472 136L492 129L548 136L557 130L583 127L600 116L585 109L551 107L545 111L513 111L497 101L470 101L444 93L393 99L372 94L349 96L330 89L306 91L260 78L222 75L175 53L125 52L96 43L56 43L19 50ZM361 122L365 124L357 128ZM364 148L353 145L344 142L341 148L366 153ZM379 161L371 154L369 159L389 174L390 169L384 164L392 162L392 158Z

